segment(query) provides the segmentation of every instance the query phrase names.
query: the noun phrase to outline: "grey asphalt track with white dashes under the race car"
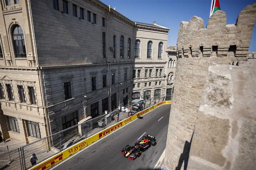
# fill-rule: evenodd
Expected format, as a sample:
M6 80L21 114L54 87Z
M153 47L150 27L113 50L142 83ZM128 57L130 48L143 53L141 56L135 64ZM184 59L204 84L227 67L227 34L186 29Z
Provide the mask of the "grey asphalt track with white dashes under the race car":
M163 104L155 108L50 169L153 169L165 149L170 107L171 104ZM134 146L139 138L141 140L147 134L156 137L156 146L142 152L134 161L122 155L126 145Z

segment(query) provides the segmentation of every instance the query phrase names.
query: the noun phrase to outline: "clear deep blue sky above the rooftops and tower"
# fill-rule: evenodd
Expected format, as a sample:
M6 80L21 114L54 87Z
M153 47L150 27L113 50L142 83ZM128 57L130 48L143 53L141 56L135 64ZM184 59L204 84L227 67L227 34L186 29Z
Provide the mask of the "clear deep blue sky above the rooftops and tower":
M193 16L204 20L206 28L211 8L211 0L100 0L111 8L116 7L123 16L132 21L169 28L167 46L176 45L181 21L189 21ZM227 14L227 24L235 24L240 11L256 0L219 0L220 10ZM256 52L256 25L254 24L248 52Z

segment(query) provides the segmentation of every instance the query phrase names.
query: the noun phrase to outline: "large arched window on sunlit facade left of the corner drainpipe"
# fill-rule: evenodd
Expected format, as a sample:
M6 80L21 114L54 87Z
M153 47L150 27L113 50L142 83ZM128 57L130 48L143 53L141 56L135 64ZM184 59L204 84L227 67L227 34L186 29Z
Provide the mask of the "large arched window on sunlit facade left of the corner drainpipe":
M16 25L13 28L13 44L17 58L26 58L26 48L22 28Z

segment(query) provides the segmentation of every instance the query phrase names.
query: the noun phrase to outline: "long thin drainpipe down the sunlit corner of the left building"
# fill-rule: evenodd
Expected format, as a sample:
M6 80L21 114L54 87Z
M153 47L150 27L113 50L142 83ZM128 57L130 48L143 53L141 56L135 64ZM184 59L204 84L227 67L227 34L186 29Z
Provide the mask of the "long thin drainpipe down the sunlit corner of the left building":
M28 1L29 2L29 10L31 11L31 4L30 4L30 1ZM31 12L32 13L32 12ZM41 70L40 70L40 67L38 66L38 58L37 58L37 49L36 49L36 42L35 42L35 31L34 31L34 24L33 24L33 17L32 17L32 14L30 13L30 18L31 18L31 25L32 25L32 30L33 30L33 34L31 33L31 36L32 37L34 37L34 44L35 44L35 54L36 54L36 56L35 56L35 59L36 59L36 63L35 63L35 65L36 65L36 67L37 67L37 70L38 70L38 73L39 73L39 84L40 84L40 88L41 88L41 97L42 97L42 104L43 104L43 107L44 107L44 112L45 112L45 120L46 120L46 126L47 126L47 131L48 131L48 136L50 136L51 135L51 130L50 130L50 127L49 127L49 114L47 113L47 111L46 111L46 107L45 107L45 103L46 103L46 97L44 96L44 93L43 93L43 91L44 91L44 88L43 88L43 86L42 86L42 80L43 80L43 78L42 78L42 74L41 74ZM31 32L32 32L32 30L31 30Z

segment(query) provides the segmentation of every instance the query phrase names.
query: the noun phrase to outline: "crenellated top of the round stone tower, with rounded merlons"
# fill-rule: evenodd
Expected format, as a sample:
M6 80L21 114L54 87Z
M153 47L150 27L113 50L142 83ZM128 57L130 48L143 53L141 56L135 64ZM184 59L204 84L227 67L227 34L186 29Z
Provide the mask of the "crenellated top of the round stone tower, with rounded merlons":
M245 60L251 42L256 15L256 3L248 5L239 14L236 24L227 25L227 15L218 10L208 20L192 17L180 23L177 51L178 57L239 57ZM214 53L213 53L214 52ZM244 57L244 58L243 58Z

